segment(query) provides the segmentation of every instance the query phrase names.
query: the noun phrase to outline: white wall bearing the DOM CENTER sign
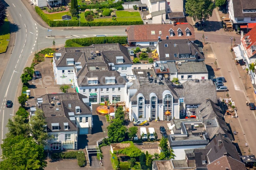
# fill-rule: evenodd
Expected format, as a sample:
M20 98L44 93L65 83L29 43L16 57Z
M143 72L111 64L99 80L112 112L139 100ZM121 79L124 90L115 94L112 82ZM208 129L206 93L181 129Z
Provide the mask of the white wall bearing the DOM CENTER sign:
M56 71L56 81L57 84L71 84L71 79L74 78L74 67L55 67ZM64 73L62 73L62 70L65 70ZM68 72L68 70L73 70L72 72Z

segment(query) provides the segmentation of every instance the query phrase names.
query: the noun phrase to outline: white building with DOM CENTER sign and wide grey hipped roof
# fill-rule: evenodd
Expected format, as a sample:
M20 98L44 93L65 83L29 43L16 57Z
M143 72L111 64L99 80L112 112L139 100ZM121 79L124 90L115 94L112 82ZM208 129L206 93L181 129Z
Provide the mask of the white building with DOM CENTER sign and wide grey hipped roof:
M121 44L93 44L88 47L62 48L54 53L53 70L57 84L72 84L78 70L90 63L105 65L105 70L116 70L132 75L132 61L126 47ZM97 64L90 71L98 70Z

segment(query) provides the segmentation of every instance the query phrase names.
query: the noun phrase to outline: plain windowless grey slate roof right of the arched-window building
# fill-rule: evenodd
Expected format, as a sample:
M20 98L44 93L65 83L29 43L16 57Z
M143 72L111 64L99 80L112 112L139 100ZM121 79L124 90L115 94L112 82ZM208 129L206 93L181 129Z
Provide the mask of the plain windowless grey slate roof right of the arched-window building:
M217 102L217 92L211 80L188 80L183 83L183 89L174 89L179 96L185 97L186 104L201 104L206 99Z

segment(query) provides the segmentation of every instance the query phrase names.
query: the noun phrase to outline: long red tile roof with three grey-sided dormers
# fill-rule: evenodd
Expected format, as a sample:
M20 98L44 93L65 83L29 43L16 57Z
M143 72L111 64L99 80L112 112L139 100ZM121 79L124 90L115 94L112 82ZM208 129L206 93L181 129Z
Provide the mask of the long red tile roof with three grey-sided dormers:
M178 29L182 30L182 36L178 36ZM190 36L186 36L186 29L190 30ZM174 31L174 36L170 37L169 30ZM145 41L157 41L158 36L161 39L166 39L166 36L169 36L169 40L172 39L188 39L195 40L195 29L189 23L176 24L175 26L171 24L149 24L149 25L132 25L126 28L126 33L128 37L128 42L145 42ZM155 31L155 34L152 35L151 31ZM159 34L161 31L162 34Z

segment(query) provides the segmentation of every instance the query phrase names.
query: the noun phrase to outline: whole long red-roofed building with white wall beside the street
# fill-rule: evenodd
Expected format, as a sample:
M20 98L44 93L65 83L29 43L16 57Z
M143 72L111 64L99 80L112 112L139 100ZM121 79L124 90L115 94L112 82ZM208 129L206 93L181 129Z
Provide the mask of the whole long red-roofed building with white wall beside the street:
M181 34L179 33L181 30ZM188 39L195 41L195 29L189 23L131 25L125 29L129 46L152 46L155 48L158 38L168 40Z

